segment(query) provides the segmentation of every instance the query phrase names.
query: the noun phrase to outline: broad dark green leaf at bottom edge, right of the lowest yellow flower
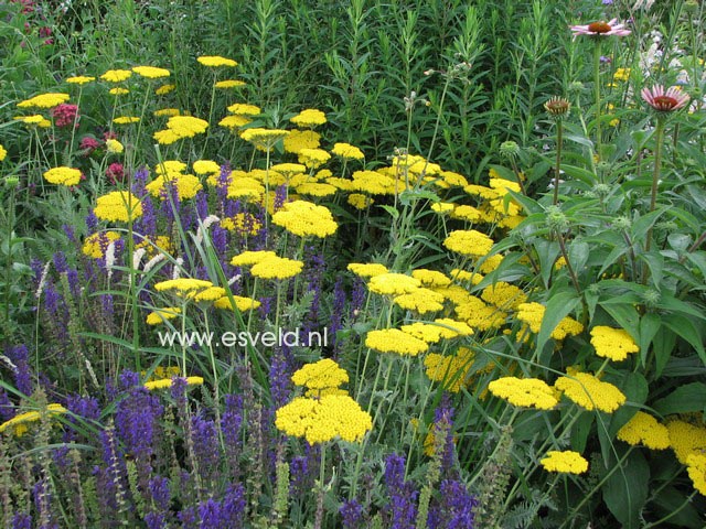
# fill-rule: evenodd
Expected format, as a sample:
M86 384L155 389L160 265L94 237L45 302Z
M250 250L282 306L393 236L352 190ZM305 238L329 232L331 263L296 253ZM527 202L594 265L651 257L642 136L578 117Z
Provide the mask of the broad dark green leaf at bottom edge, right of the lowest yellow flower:
M624 456L631 447L616 446L619 456ZM638 529L640 514L648 499L650 467L642 452L632 450L620 467L617 461L609 462L608 477L603 488L603 500L623 529Z

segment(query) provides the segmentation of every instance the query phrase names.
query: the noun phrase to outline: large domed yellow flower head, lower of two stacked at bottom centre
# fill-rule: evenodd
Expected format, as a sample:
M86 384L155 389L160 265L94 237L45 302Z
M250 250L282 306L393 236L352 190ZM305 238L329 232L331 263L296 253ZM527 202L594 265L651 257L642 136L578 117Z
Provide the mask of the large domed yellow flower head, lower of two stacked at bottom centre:
M275 425L313 445L336 438L361 441L373 428L373 419L351 397L325 395L320 399L297 397L277 410Z

